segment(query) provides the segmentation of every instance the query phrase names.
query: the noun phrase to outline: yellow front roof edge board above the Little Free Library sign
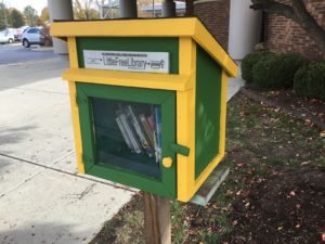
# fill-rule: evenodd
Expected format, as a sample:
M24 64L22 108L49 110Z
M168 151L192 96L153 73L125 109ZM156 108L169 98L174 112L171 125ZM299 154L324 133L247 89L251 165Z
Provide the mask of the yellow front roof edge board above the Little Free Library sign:
M186 37L194 35L195 17L53 22L53 37Z

